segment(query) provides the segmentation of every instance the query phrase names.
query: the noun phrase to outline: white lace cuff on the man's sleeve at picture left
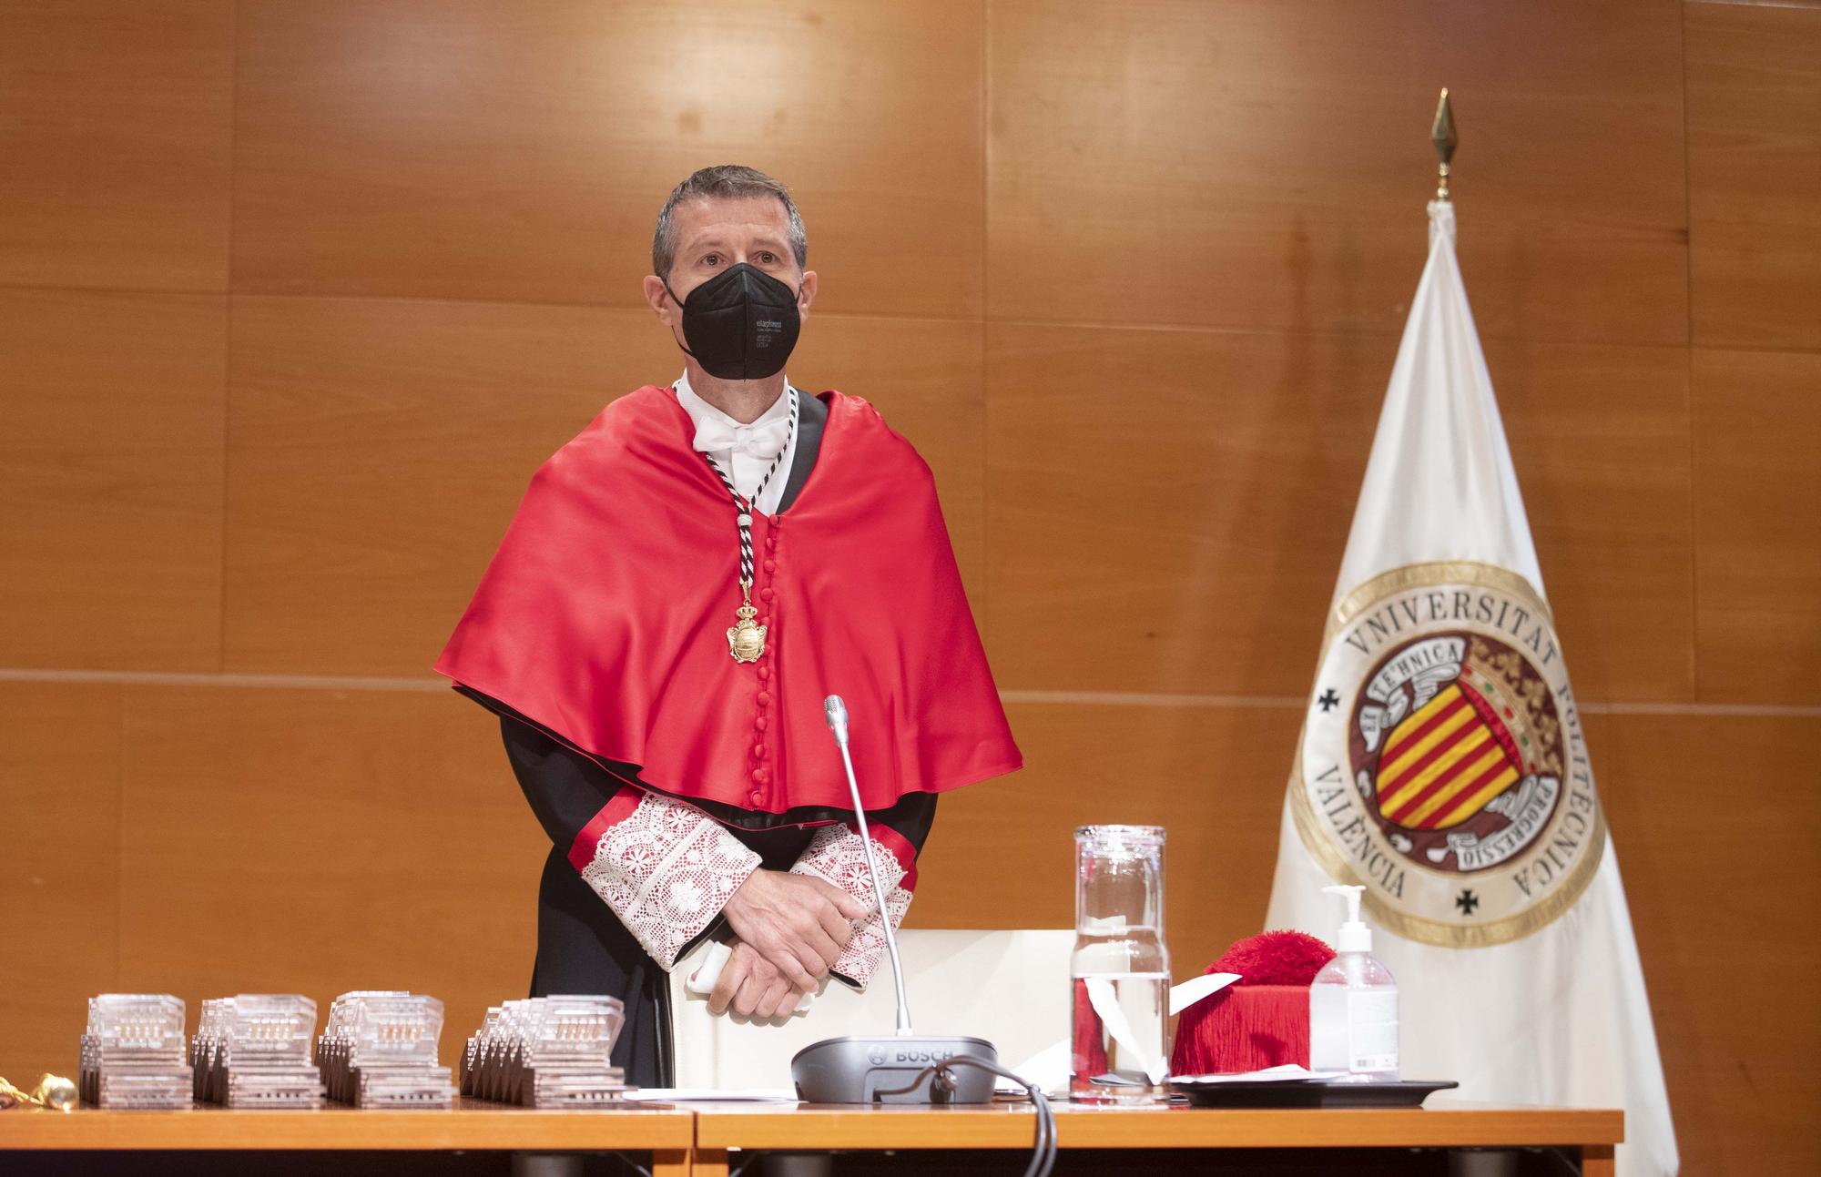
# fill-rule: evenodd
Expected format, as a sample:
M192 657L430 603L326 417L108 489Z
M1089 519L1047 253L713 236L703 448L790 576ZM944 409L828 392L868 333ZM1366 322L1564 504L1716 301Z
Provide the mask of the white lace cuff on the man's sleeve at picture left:
M588 824L570 862L665 971L759 867L714 818L639 789L623 791Z

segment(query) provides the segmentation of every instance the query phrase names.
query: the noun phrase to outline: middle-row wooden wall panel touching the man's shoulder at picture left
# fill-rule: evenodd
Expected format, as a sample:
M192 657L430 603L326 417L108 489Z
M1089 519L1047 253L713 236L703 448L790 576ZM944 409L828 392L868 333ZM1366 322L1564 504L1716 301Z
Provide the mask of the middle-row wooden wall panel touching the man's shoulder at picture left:
M650 310L237 297L226 665L430 674L532 472L670 355Z

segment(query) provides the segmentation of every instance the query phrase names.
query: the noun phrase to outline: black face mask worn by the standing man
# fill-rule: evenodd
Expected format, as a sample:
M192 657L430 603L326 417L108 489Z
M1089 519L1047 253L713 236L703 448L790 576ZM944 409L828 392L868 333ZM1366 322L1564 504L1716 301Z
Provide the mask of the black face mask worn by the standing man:
M668 281L665 290L677 299ZM683 352L723 381L758 381L781 372L803 326L796 292L747 262L728 266L677 304L688 343Z

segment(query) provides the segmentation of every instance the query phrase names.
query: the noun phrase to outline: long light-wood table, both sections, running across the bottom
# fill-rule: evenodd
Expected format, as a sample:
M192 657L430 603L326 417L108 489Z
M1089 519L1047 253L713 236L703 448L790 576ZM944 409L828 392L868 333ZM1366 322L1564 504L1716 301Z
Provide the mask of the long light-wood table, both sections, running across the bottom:
M650 1151L654 1177L727 1177L730 1150L1025 1150L1029 1104L852 1108L697 1104L615 1111L534 1111L459 1100L450 1111L0 1111L7 1150L537 1150ZM1579 1151L1588 1177L1612 1177L1624 1115L1497 1108L1433 1099L1408 1110L1080 1108L1056 1104L1062 1148L1322 1150L1521 1148ZM5 1168L0 1164L0 1168Z

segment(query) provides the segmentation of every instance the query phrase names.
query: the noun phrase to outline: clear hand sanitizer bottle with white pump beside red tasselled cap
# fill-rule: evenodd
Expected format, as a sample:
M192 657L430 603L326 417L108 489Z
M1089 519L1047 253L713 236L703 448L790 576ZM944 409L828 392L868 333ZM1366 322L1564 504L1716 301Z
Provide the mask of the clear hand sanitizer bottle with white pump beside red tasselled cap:
M1366 887L1322 887L1348 906L1335 958L1309 984L1309 1070L1346 1071L1335 1082L1397 1082L1397 982L1371 955L1360 920Z

